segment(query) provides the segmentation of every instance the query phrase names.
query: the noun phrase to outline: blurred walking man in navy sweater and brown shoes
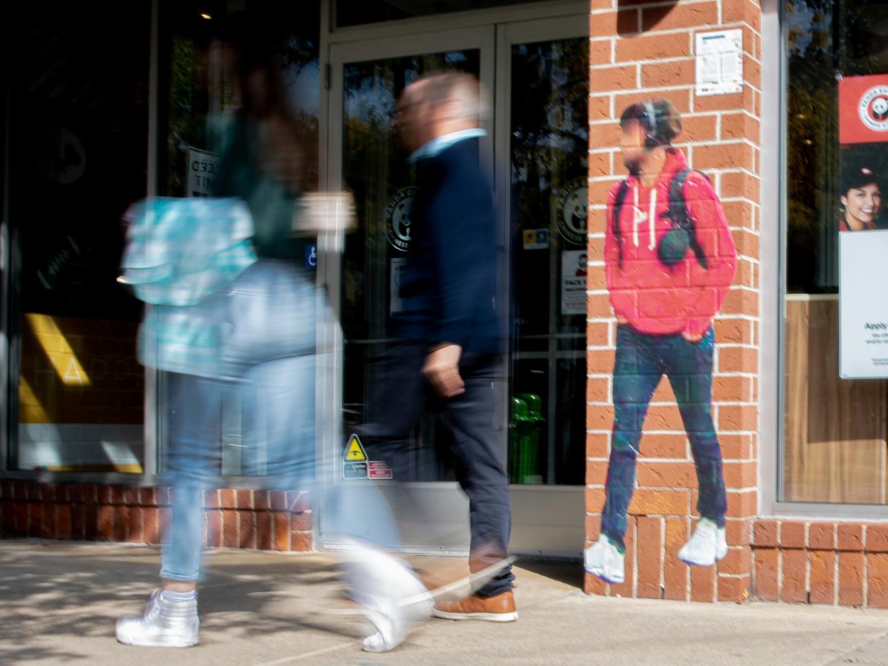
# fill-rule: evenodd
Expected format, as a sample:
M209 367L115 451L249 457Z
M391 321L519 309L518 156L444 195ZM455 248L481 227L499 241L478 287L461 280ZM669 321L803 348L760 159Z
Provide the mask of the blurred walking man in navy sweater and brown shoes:
M399 342L381 360L386 384L364 432L373 456L392 467L395 480L404 479L408 434L429 401L439 403L452 433L457 480L469 498L472 572L506 558L511 531L509 481L493 416L502 394L502 335L493 193L479 163L482 107L478 81L456 73L425 76L398 100L394 125L418 173L410 227L415 249L401 281L404 312L392 331ZM432 614L516 620L513 579L511 567L503 567L471 595L440 601ZM403 640L402 630L384 634L365 649L384 651Z

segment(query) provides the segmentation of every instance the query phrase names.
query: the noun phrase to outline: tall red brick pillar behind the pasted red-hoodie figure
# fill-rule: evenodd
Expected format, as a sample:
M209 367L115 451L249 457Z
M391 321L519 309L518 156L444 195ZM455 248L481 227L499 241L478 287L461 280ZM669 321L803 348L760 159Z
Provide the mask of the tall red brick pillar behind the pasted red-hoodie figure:
M589 593L694 601L747 599L751 521L757 511L758 232L760 202L761 7L753 0L651 6L591 0L589 155L589 319L587 369L586 544L598 538L613 407L616 323L604 275L607 193L625 177L619 117L640 99L663 97L678 108L676 141L692 168L712 178L737 246L737 274L715 322L713 416L725 460L730 552L718 567L678 560L696 519L697 482L678 407L664 379L641 440L630 505L626 583L587 575ZM743 32L743 91L696 97L694 35Z

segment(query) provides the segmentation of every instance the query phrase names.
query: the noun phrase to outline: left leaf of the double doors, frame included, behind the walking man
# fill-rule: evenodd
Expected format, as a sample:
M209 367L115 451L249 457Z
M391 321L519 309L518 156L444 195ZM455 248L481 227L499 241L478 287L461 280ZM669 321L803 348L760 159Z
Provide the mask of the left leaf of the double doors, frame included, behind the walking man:
M361 485L386 486L385 480L347 478L352 472L360 475L364 468L344 470L341 461L353 432L360 432L373 417L375 392L387 381L380 364L373 361L385 352L390 342L387 331L400 313L400 267L410 249L416 174L392 129L395 103L409 83L432 71L468 72L492 90L493 37L493 28L477 28L331 48L329 187L353 193L358 226L351 234L329 239L335 247L321 248L319 257L338 315L337 367L329 375L333 412L329 422L321 424L328 434L324 456L332 461L327 481L347 486L351 501L360 501L354 498L360 497ZM486 129L492 133L492 127ZM488 170L492 167L491 139L482 139L479 159ZM505 446L504 416L499 420ZM456 485L449 450L440 419L424 416L406 452L409 477L400 481L423 484L417 495L429 503L439 542L423 543L423 526L411 532L409 516L396 516L401 546L407 550L467 548L467 506ZM366 455L374 458L372 450Z

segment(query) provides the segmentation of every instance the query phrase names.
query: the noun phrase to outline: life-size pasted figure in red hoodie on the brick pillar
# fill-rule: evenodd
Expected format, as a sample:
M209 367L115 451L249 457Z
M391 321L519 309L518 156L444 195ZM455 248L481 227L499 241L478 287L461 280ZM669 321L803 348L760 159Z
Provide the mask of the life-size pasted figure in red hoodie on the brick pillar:
M710 567L727 554L725 480L712 421L712 320L733 281L736 250L709 178L672 147L681 116L666 99L628 107L620 119L630 176L607 200L605 271L617 317L614 429L599 540L586 571L624 580L623 537L642 425L661 377L669 378L700 486L701 519L678 551Z

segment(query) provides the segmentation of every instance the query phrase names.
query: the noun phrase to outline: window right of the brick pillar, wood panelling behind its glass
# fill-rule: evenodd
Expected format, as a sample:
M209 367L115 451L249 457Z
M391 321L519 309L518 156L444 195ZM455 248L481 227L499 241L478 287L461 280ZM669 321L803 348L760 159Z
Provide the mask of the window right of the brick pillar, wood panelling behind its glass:
M837 255L843 181L855 169L888 172L884 142L840 145L839 82L888 74L888 12L867 0L789 0L782 22L787 293L781 499L885 503L888 382L839 378ZM888 225L884 206L875 225Z

